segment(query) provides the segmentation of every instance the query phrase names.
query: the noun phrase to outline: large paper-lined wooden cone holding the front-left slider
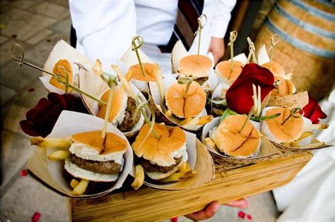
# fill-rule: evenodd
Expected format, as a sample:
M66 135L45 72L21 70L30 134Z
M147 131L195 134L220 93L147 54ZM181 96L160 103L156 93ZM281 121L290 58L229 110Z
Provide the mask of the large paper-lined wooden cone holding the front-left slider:
M76 113L72 111L63 111L54 125L54 129L48 137L65 137L73 135L77 132L86 132L92 130L101 130L103 125L103 119L88 114ZM52 187L57 192L67 197L74 198L91 198L100 197L106 195L113 190L122 187L124 180L131 171L133 165L133 151L127 140L127 138L115 128L112 124L108 123L107 132L112 132L115 135L121 137L127 141L128 147L127 152L124 154L124 166L122 172L119 174L119 178L116 182L110 183L110 186L105 187L102 190L97 190L96 193L90 195L71 195L72 188L70 186L70 180L66 180L67 174L64 170L64 161L50 161L47 156L52 152L56 151L57 148L46 148L36 147L33 154L28 160L28 169L34 175L37 176L42 182ZM72 178L72 177L71 177Z

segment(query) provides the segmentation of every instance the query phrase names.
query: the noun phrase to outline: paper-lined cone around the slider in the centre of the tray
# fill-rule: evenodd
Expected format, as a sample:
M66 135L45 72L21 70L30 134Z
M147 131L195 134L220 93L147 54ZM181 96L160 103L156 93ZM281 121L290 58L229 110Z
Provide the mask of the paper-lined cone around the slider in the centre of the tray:
M172 75L165 75L165 78L163 79L164 95L166 94L167 89L175 82L177 82L177 80ZM151 92L151 94L149 95L149 103L151 104L151 107L153 108L153 111L155 112L155 115L158 121L161 121L165 123L166 125L173 125L173 126L177 125L183 130L187 130L189 132L196 132L202 127L202 125L191 125L191 124L190 125L189 124L180 125L179 123L177 123L177 118L175 118L174 116L167 117L165 113L163 113L162 107L160 105L160 104L163 104L163 102L160 99L160 92L159 92L157 82L149 82L149 87L150 87L150 92ZM206 116L206 115L207 115L207 111L204 108L201 111L201 113L195 116L192 121L189 121L189 123L192 123L192 122L197 123L197 120L199 120L199 118Z

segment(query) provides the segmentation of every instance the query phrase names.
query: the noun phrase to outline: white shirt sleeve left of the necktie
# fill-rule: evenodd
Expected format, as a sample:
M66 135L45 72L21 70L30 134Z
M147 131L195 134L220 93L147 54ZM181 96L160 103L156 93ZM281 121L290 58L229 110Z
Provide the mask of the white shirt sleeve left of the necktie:
M136 35L133 0L69 0L77 42L92 61L102 66L115 63L131 46Z

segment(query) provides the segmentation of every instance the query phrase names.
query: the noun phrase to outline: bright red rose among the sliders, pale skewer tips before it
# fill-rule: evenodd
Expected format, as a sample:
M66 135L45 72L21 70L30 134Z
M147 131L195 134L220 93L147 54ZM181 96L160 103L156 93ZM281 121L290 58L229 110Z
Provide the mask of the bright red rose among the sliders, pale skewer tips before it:
M261 87L261 101L276 87L274 86L274 75L269 69L258 66L256 63L248 63L242 69L242 73L229 87L225 99L229 109L237 113L249 113L254 101L252 99L252 85Z

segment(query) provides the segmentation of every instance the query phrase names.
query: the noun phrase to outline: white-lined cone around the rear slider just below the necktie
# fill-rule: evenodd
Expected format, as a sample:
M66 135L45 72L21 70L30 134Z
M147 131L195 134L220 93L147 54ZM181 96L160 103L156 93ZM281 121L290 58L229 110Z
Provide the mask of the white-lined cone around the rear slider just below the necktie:
M184 45L180 40L178 40L171 52L171 68L172 73L179 74L179 63L182 58L189 56L189 53L185 49ZM218 85L218 78L214 73L213 68L208 72L208 80L206 80L201 86L204 90L213 91L214 87Z

